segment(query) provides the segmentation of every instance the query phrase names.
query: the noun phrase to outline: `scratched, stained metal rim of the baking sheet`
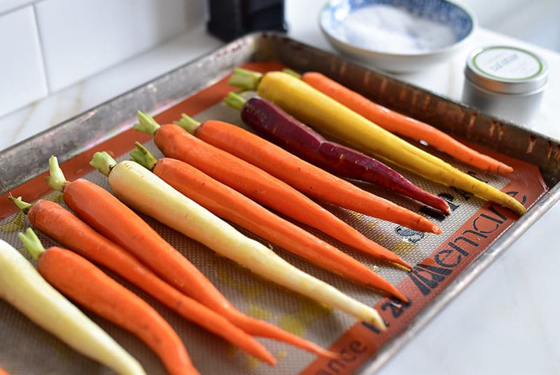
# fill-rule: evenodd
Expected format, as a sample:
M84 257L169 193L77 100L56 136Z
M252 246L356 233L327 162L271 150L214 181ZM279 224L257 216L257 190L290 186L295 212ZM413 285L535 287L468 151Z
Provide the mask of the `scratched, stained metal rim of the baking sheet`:
M243 36L69 121L0 151L1 194L44 172L48 156L56 154L60 161L66 161L92 145L130 128L137 110L157 113L167 109L223 78L234 67L251 61L279 61L293 69L321 71L386 107L402 111L490 149L539 165L551 188L527 214L507 229L486 252L416 315L405 332L387 343L375 357L366 362L360 372L376 371L386 363L560 198L560 167L558 161L551 157L554 153L550 152L551 149L560 149L558 141L514 123L480 114L460 102L399 81L381 71L353 64L337 55L271 32ZM78 129L80 131L73 131ZM499 131L494 131L496 129ZM529 146L533 150L531 153L526 152Z

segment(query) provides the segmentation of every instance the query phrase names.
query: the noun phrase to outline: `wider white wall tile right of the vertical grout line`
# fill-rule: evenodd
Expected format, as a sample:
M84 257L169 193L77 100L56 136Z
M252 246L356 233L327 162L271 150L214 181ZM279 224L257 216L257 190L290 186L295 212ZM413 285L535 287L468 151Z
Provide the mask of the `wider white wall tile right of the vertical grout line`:
M59 90L203 22L204 1L45 0L36 13L48 84Z

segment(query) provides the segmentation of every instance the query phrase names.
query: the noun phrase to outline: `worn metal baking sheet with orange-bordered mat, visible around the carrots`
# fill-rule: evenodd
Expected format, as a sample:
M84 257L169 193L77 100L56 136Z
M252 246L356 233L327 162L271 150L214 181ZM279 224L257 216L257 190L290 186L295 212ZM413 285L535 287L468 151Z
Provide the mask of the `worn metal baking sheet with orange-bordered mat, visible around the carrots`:
M123 137L132 139L131 137L136 136L132 135L130 128L136 120L138 110L158 114L158 121L171 121L181 111L188 111L199 120L217 118L241 125L235 111L221 104L219 98L229 89L224 84L225 77L232 69L244 64L259 69L285 66L298 71L321 71L386 107L426 121L489 154L507 158L508 162L515 164L516 170L521 170L520 175L501 177L479 174L479 177L512 193L523 194L526 193L524 189L528 192L531 190L526 194L531 207L523 217L517 218L505 212L505 209L493 207L476 197L465 196L451 188L424 181L405 171L400 172L424 189L458 199L453 203L459 208L449 218L438 219L433 214L430 216L442 220L442 235L425 236L420 241L419 233L407 232L406 229L390 223L328 207L367 236L393 248L414 265L414 270L407 274L388 266L377 265L371 259L355 254L360 261L372 266L395 285L404 288L402 290L411 298L411 306L395 304L394 301L330 275L281 249L275 249L282 257L304 271L323 278L379 308L381 315L391 323L384 334L353 321L347 315L318 306L255 278L227 259L217 257L204 249L202 245L181 236L177 237L165 227L147 219L170 242L181 245L181 251L216 282L236 306L343 354L342 360L333 362L316 358L281 343L263 340L265 346L279 358L278 366L272 369L242 355L220 339L202 332L202 329L184 322L146 294L118 279L153 304L172 323L186 342L195 366L203 374L216 374L225 370L235 374L370 374L379 369L426 325L426 322L437 318L437 313L445 304L559 199L560 144L556 140L514 123L486 116L461 103L403 83L379 71L353 64L337 55L289 39L283 34L265 32L237 39L214 53L2 151L1 238L20 248L16 236L17 229L25 227L27 223L25 217L18 216L6 203L8 194L22 195L27 201L33 201L45 194L47 198L57 199L56 194L49 193L47 188L28 187L30 184L38 184L35 182L42 179L50 155L56 155L59 161L68 165L68 170L72 172L67 177L85 177L109 189L99 174L90 172L83 165L87 165L92 151L99 147L116 147L120 150L118 156L121 159L127 158L127 151L132 149L132 143L128 149L126 146L123 148L121 143ZM152 151L158 153L149 137L140 138ZM465 166L458 165L458 168ZM468 168L465 168L465 171L468 171ZM364 187L374 189L370 186ZM391 192L374 192L430 215L421 207L392 196ZM486 223L491 222L496 226L496 230L480 229L479 224L483 219ZM475 232L476 238L464 234ZM321 236L320 233L314 233ZM250 233L246 234L251 236ZM48 243L48 238L43 237L43 240ZM442 263L445 266L438 267L433 263L434 257L449 254L449 246L452 249L452 245L458 243L466 244L457 247L458 254L465 259L462 263L457 256L454 258L456 267L451 267L449 259ZM466 246L472 247L472 251ZM258 292L255 294L255 291ZM258 296L258 301L255 301L255 296ZM48 369L47 372L52 374L77 371L83 374L107 373L104 367L78 353L73 353L49 334L41 332L3 301L0 301L0 317L0 366L12 369L13 374L32 374L37 371L45 373L41 371L44 369ZM137 339L97 317L92 318L141 360L149 374L163 373L157 358Z

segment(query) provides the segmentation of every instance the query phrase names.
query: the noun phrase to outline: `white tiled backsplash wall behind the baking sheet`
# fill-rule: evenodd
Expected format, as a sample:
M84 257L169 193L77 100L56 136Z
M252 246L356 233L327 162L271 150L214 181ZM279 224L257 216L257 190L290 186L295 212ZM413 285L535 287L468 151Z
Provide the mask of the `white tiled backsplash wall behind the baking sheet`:
M0 116L206 19L207 0L0 0Z

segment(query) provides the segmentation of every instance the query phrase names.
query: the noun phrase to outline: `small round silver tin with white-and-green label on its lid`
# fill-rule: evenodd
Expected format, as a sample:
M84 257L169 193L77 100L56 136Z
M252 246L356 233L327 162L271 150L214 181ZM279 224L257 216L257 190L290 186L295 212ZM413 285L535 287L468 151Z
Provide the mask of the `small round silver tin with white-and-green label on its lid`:
M531 125L547 79L547 64L534 53L510 46L480 48L467 59L463 102L486 114Z

